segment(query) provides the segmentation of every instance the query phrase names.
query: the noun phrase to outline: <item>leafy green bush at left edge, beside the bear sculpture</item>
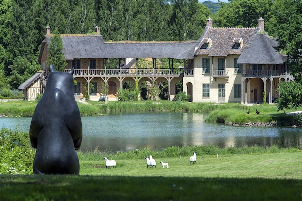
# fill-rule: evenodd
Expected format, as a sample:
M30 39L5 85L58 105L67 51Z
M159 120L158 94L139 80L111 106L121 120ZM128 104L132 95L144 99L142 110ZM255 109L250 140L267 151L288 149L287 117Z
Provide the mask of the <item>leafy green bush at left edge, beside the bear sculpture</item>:
M30 146L28 133L2 127L0 145L0 174L32 173L35 150Z

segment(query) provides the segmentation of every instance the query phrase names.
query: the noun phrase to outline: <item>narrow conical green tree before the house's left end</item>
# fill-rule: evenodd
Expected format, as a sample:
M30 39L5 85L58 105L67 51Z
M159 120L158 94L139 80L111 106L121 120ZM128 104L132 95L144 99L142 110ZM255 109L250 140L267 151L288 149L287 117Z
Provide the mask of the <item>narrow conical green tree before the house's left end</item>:
M50 43L48 47L48 60L47 64L48 65L54 65L56 71L64 71L66 68L66 61L65 61L65 56L63 52L63 41L58 33L57 28L54 30L53 36L50 37Z

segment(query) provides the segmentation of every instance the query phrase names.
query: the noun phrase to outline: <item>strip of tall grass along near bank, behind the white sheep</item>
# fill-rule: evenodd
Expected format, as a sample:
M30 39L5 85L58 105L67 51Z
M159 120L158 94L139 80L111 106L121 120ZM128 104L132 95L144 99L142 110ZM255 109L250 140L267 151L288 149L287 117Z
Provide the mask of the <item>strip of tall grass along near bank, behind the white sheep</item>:
M119 160L134 160L144 159L144 157L152 155L154 158L177 158L189 157L196 152L198 156L206 155L233 155L233 154L272 154L272 153L291 153L302 152L299 148L281 148L277 145L262 147L262 146L243 146L243 147L228 147L220 148L213 145L200 146L184 146L184 147L168 147L164 150L152 150L149 148L136 149L125 152L100 151L98 148L78 152L81 161L101 160L102 157L114 158Z

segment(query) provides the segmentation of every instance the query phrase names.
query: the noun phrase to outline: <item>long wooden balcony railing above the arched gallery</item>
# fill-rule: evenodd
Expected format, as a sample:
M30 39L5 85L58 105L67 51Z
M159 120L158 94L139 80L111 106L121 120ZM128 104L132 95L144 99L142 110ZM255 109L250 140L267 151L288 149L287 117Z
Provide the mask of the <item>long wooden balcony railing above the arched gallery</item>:
M70 69L66 69L68 72ZM174 75L179 76L184 73L183 69L74 69L73 75L90 75L90 76L118 76L118 75L137 75L137 76L148 76L148 75ZM188 75L194 75L194 70L187 70Z

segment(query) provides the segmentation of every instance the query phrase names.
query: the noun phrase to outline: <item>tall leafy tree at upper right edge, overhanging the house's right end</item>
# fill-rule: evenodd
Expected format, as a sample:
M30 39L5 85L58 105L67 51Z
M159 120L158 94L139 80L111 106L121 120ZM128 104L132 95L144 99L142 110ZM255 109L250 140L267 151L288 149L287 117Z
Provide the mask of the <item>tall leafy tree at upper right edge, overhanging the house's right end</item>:
M302 2L277 0L272 6L269 32L277 37L278 49L287 53L287 65L296 82L302 82Z

